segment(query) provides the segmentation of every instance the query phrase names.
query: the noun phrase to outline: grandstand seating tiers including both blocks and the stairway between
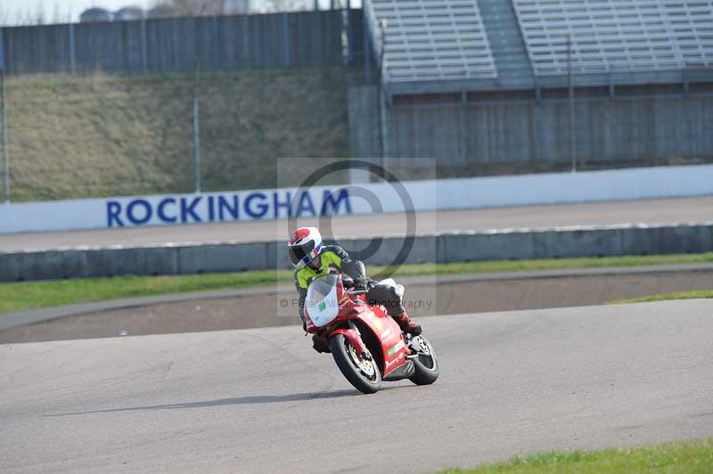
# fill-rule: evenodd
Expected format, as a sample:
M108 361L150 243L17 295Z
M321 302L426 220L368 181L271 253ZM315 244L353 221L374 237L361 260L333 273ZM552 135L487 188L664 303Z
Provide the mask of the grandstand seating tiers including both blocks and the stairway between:
M570 68L583 85L667 83L713 68L713 1L365 0L364 8L382 83L394 91L430 81L434 91L556 86Z

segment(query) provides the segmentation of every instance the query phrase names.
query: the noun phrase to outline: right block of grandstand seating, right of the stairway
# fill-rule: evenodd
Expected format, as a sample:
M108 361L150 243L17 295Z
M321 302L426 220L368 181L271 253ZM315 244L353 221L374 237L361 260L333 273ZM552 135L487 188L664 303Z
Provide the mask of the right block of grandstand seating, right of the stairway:
M713 66L713 1L512 0L512 4L536 76L567 74L569 54L575 74Z

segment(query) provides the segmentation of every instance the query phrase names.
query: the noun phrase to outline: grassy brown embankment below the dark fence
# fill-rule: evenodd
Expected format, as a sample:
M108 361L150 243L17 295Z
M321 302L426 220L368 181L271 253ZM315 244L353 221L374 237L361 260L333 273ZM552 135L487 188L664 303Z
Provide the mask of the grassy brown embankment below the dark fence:
M275 187L278 158L348 156L343 68L206 72L204 191ZM6 84L11 200L193 191L193 74Z

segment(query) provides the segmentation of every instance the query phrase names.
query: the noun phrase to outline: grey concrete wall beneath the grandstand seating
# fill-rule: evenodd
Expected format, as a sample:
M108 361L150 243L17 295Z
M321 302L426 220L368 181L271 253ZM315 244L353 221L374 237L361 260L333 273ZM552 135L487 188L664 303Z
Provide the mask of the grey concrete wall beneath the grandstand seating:
M713 156L709 126L713 97L695 92L709 86L693 86L693 94L684 94L683 82L681 78L676 86L621 86L613 99L607 87L578 89L578 158L611 166L611 162ZM459 94L398 96L390 109L390 152L385 154L436 156L444 168L570 160L566 89L550 94L545 90L539 101L534 90L525 97L517 91L459 99ZM367 101L368 95L350 95L350 100ZM374 130L376 137L380 134ZM354 148L374 138L352 135L352 139Z

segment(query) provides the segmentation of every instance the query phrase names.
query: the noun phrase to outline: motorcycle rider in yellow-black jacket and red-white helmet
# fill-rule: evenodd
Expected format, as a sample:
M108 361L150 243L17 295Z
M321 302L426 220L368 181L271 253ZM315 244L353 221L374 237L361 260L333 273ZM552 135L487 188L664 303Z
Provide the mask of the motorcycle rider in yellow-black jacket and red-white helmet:
M406 315L402 298L397 295L394 287L381 285L366 277L365 266L358 260L351 260L344 249L337 245L322 245L322 235L316 227L302 227L292 233L287 242L292 265L295 266L295 286L299 291L299 317L302 327L307 331L305 323L305 298L307 287L312 279L329 274L332 268L354 280L356 290L368 290L366 297L369 304L383 305L389 316L401 327L401 330L417 336L421 334L421 326L411 321ZM322 339L313 336L317 352L328 352Z

